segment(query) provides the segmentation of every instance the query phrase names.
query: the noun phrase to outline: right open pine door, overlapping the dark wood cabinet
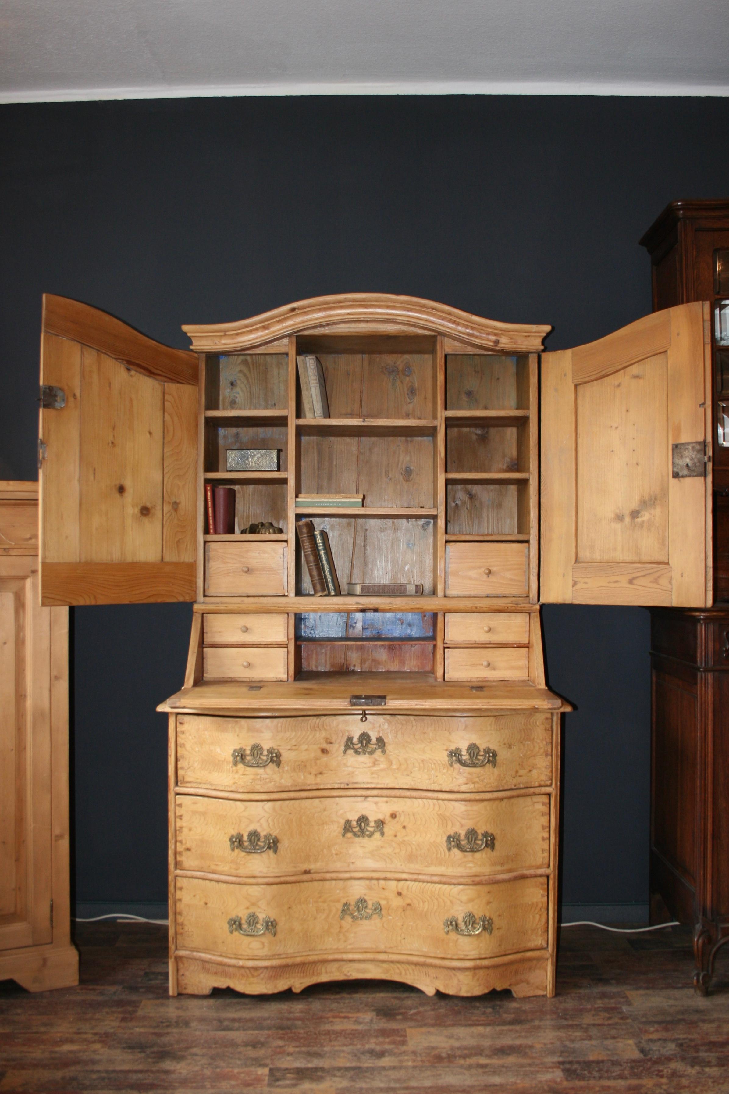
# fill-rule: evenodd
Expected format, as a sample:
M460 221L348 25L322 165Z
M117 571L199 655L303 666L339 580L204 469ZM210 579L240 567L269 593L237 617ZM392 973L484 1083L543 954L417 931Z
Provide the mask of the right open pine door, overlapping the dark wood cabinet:
M704 307L542 354L544 603L712 603Z

